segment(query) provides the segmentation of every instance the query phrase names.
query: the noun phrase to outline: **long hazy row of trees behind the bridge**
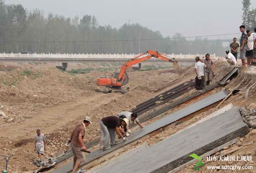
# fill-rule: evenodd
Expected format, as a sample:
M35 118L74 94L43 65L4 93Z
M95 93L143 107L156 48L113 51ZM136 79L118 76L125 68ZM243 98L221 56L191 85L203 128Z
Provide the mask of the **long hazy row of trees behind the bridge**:
M166 54L223 55L227 49L219 41L180 37L181 33L164 37L138 23L125 23L120 28L101 26L91 15L65 18L50 13L45 17L42 10L28 11L20 4L7 5L0 0L0 53L137 54L152 49Z

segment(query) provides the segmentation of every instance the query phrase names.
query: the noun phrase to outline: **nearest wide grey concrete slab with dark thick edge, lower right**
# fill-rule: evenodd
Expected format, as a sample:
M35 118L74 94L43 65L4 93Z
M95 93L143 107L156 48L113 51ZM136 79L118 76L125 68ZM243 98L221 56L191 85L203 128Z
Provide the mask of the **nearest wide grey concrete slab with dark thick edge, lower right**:
M248 132L234 107L95 173L167 173L190 161L190 154L203 155Z

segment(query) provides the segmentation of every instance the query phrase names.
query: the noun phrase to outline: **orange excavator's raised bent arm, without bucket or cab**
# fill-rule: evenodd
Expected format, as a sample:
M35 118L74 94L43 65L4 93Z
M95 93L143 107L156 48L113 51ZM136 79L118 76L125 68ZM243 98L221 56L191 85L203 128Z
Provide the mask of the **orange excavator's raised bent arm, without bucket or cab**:
M147 55L147 56L143 56L143 55ZM172 60L172 59L166 58L166 56L167 55L164 55L162 53L159 53L159 52L156 52L156 51L153 51L153 50L148 50L147 52L145 52L145 53L143 53L141 55L138 55L137 57L135 57L135 58L129 60L128 62L126 62L125 64L123 64L123 66L120 69L120 72L119 72L119 75L117 77L117 80L119 82L123 82L126 79L125 72L126 72L126 70L128 68L130 68L134 64L146 61L147 59L150 59L152 57L153 58L162 59L164 61L168 61L168 62L172 62L172 63L177 63L177 61L174 58Z

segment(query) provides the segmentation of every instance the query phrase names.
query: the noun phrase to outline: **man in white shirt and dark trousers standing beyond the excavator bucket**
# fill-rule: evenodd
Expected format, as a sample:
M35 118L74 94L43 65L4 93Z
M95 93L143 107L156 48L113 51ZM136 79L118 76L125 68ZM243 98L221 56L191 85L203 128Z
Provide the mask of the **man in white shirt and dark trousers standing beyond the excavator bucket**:
M207 68L204 63L200 61L199 56L195 57L196 63L194 64L194 69L196 73L195 77L195 89L202 92L204 89L204 68Z

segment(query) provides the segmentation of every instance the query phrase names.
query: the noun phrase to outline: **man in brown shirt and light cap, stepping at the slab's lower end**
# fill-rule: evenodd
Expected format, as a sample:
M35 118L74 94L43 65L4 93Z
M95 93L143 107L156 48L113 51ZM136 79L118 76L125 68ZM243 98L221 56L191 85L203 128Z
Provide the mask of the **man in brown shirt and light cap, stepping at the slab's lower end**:
M72 173L83 173L85 170L78 170L80 164L85 161L85 155L81 150L86 150L83 139L86 135L86 127L92 124L90 117L85 117L83 123L78 123L71 133L71 148L74 154L74 164Z

